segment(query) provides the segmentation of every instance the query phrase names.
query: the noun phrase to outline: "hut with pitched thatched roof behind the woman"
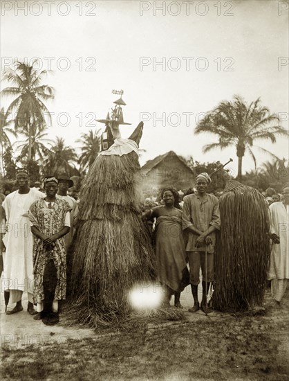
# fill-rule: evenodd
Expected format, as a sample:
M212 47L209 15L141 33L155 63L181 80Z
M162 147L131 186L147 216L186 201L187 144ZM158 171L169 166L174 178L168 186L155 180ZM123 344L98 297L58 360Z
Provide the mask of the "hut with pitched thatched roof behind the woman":
M147 161L141 168L141 175L142 188L174 186L176 189L185 189L195 186L193 170L174 151Z

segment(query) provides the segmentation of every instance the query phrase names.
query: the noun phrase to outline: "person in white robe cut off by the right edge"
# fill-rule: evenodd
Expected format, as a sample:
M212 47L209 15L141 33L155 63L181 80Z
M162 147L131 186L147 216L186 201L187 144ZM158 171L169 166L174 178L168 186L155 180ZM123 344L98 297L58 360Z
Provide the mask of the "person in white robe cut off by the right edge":
M268 280L272 296L279 305L289 279L289 188L283 189L283 202L274 202L269 209L273 246Z

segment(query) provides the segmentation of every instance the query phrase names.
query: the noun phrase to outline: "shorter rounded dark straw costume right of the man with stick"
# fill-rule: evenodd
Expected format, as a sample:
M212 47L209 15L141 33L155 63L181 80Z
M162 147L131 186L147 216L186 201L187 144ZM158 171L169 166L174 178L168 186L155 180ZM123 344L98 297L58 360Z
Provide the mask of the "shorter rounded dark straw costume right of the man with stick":
M261 312L270 258L268 204L258 190L231 179L223 166L219 170L226 186L219 199L212 306L223 312Z

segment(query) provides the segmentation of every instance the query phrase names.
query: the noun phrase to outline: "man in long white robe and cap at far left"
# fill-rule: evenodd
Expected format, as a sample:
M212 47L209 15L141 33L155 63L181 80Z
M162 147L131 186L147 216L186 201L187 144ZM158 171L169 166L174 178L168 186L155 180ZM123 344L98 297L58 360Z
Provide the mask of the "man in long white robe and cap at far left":
M29 175L25 168L17 169L16 181L19 189L10 193L2 204L7 222L7 233L3 238L6 253L3 258L2 285L4 292L10 293L10 303L16 303L7 314L23 310L21 299L24 291L28 292L27 310L30 314L35 314L32 303L33 236L30 233L28 209L32 202L45 195L35 188L29 188Z

